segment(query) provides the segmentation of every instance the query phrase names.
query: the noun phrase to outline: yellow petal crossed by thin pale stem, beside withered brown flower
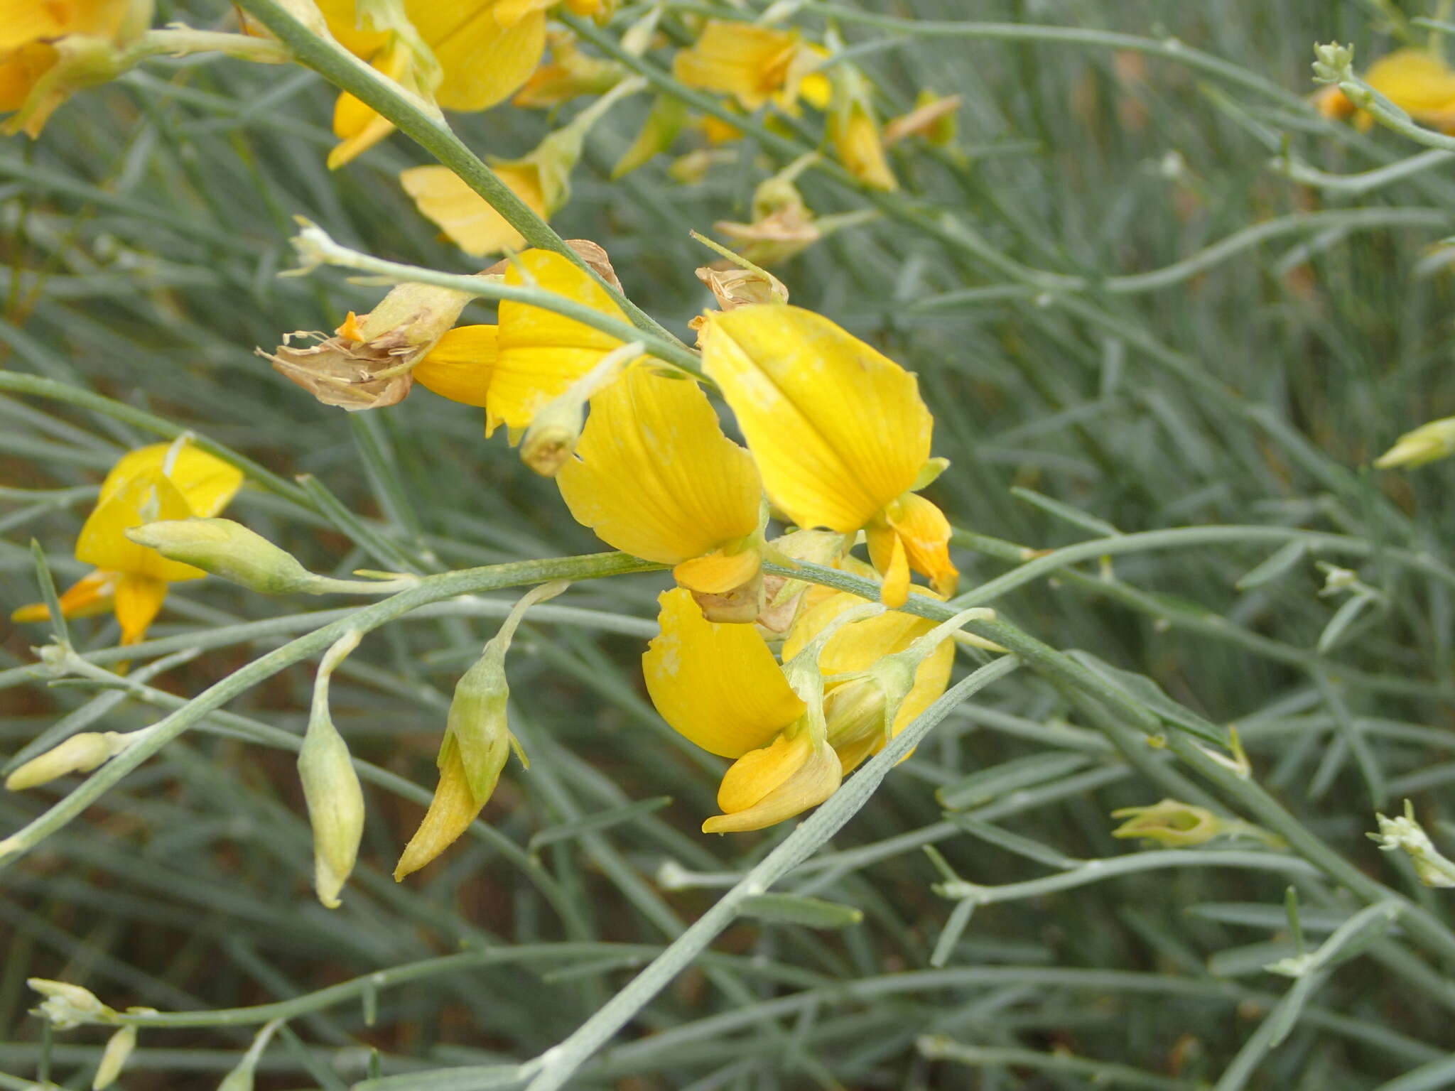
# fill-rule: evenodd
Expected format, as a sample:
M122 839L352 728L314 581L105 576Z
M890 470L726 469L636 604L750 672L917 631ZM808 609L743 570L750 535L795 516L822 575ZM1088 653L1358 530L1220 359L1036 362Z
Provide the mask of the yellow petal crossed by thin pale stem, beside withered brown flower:
M511 285L531 284L626 321L626 314L594 278L550 250L525 250L505 273ZM509 428L525 428L535 410L566 393L621 342L543 307L502 300L490 412Z

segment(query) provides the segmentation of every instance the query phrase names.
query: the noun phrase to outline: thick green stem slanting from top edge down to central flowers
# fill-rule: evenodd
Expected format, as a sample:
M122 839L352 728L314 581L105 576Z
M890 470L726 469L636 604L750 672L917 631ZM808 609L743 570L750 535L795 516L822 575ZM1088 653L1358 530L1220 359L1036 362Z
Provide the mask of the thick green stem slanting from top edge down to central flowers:
M332 38L310 31L278 0L239 0L237 6L287 45L294 60L313 68L335 87L346 90L380 116L387 118L394 128L450 167L461 182L485 198L505 223L519 231L527 243L565 255L573 265L583 269L605 288L637 329L666 342L677 340L646 311L607 284L575 250L566 246L565 240L544 220L501 182L495 172L470 151L448 125L432 118L420 105L412 102L399 84L370 68ZM630 337L624 337L624 340L630 340Z

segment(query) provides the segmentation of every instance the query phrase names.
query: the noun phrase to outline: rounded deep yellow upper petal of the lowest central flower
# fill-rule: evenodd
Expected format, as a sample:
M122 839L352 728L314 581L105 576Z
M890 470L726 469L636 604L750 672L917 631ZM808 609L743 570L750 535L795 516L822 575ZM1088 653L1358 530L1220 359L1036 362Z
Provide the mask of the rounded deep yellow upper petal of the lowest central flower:
M803 716L773 652L752 626L706 621L691 594L662 592L662 631L642 656L652 704L704 751L738 758Z

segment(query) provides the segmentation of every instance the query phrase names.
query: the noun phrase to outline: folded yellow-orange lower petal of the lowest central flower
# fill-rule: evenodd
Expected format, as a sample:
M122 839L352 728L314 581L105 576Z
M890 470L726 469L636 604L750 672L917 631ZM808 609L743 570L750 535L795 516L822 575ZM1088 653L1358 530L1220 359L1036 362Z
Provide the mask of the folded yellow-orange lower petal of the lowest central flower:
M728 813L707 819L703 832L771 826L816 807L838 791L841 780L842 765L832 746L815 745L805 735L792 740L780 736L728 770L717 793L717 806Z

